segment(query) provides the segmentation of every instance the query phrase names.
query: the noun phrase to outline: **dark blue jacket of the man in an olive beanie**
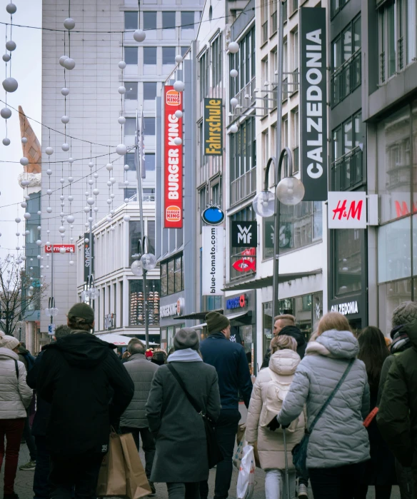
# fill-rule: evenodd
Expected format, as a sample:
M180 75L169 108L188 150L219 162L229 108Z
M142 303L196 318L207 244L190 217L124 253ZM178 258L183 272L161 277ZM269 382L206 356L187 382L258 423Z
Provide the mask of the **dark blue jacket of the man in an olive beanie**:
M212 333L201 342L200 352L204 362L216 368L221 408L237 409L239 391L248 408L253 385L243 346L228 341L219 332Z

